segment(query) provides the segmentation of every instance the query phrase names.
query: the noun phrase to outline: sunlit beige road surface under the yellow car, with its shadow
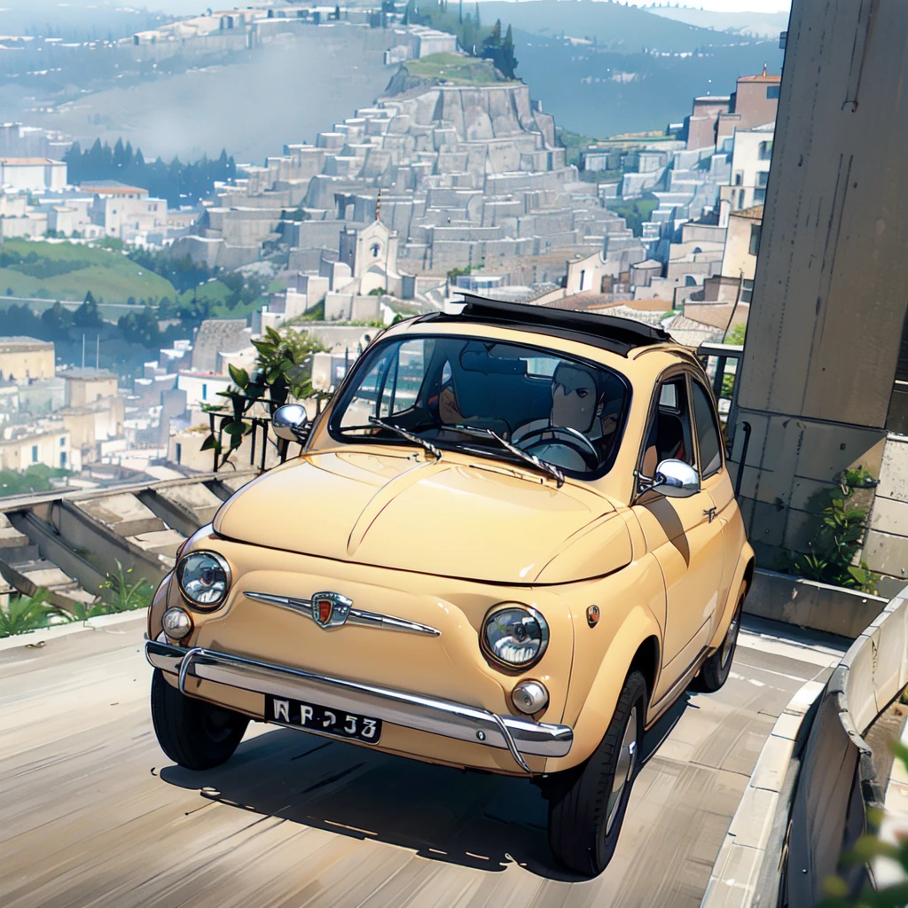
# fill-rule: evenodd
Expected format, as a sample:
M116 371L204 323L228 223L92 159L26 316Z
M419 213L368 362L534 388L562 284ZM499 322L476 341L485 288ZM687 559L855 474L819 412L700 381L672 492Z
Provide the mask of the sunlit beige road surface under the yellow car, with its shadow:
M775 717L842 652L745 619L729 681L649 736L615 857L580 880L522 779L258 724L225 766L173 765L142 635L0 651L3 908L696 906Z

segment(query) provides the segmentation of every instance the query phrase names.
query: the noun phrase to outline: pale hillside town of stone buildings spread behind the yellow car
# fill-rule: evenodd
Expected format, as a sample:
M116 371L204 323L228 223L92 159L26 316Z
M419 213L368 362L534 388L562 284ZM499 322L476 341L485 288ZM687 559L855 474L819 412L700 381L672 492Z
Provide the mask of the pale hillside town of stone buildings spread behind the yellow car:
M303 13L331 15L296 12L298 27L317 24ZM160 54L178 33L258 40L273 13L206 15L134 41ZM252 341L281 326L309 333L319 348L308 361L312 385L330 392L381 325L439 311L462 292L659 323L691 346L745 325L778 75L743 76L729 94L692 99L662 135L590 144L568 163L531 86L494 70L486 84L458 84L444 78L445 65L465 59L452 35L400 22L389 31L389 53L404 66L383 96L311 144L237 164L235 179L215 183L195 208L169 209L117 180L71 185L62 137L0 129L3 240L107 239L212 274L264 266L276 279L248 318L203 320L137 376L92 369L97 332L83 335L87 359L83 350L59 366L53 343L5 339L11 463L44 464L64 470L57 483L89 486L210 469L199 450L208 410L231 386L231 366L254 368ZM414 60L441 76L410 75ZM632 230L619 212L641 203ZM18 359L32 348L44 351L40 365Z

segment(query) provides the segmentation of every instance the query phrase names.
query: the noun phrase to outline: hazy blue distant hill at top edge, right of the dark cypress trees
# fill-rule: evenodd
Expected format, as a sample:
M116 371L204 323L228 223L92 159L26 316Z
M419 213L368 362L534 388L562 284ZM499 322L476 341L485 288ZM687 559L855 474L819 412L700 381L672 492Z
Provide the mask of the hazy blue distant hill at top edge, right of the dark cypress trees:
M685 12L665 10L660 12ZM704 44L731 44L736 35L716 35L708 27L688 25L639 6L606 0L525 0L479 4L483 25L496 19L516 29L549 37L564 35L595 40L597 46L619 54L638 54L644 47L659 51L693 51Z

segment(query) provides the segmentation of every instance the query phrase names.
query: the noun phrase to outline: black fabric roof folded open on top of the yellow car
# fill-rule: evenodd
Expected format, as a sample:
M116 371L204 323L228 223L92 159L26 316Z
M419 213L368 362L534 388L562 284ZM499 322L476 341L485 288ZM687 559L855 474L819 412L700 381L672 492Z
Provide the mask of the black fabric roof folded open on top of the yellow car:
M616 315L550 309L548 306L533 306L525 302L487 300L472 293L464 293L463 296L467 305L459 315L435 312L423 316L419 321L473 321L502 328L536 331L592 344L621 356L627 356L635 347L672 340L667 331L655 325L622 319Z

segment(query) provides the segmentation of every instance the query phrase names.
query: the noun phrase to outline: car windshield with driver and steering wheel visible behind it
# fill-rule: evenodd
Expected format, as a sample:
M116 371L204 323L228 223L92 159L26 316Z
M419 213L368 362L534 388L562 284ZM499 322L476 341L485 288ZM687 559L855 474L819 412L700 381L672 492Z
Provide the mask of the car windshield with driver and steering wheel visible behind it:
M627 389L617 372L552 350L410 337L370 350L329 430L340 441L416 443L396 428L438 449L524 460L500 443L505 439L569 475L591 479L617 452Z

